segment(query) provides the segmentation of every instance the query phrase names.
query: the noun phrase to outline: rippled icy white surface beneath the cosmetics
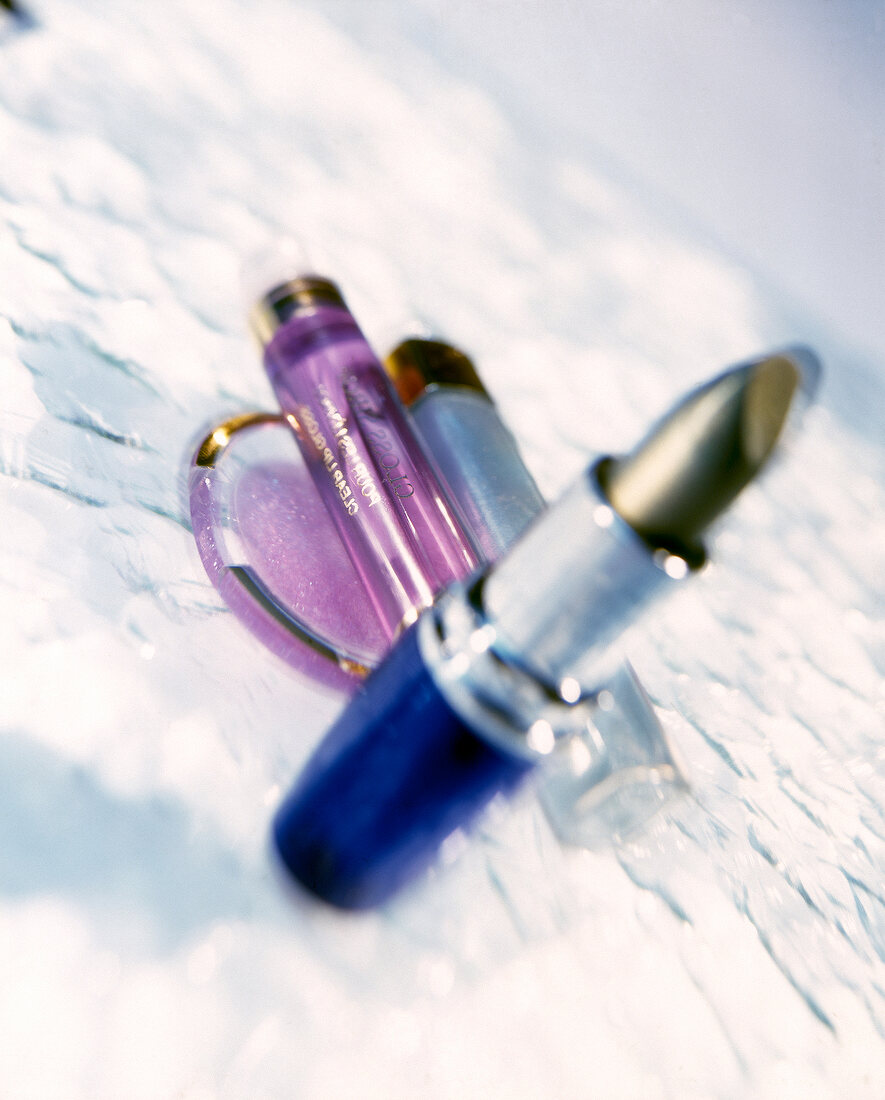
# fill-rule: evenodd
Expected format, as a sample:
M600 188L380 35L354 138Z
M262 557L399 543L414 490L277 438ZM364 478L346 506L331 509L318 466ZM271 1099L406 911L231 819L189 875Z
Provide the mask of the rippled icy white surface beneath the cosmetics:
M0 24L0 1096L885 1094L871 292L818 309L807 255L753 276L653 174L566 140L539 73L578 6L552 7L34 0L36 28ZM684 85L692 51L646 7L650 37L610 13L605 42ZM742 198L763 224L766 195ZM421 314L469 349L549 494L728 362L823 352L793 453L631 654L694 791L644 836L564 851L526 798L378 914L276 879L269 816L341 700L223 610L182 464L208 420L269 403L240 268L280 233L333 257L379 344Z

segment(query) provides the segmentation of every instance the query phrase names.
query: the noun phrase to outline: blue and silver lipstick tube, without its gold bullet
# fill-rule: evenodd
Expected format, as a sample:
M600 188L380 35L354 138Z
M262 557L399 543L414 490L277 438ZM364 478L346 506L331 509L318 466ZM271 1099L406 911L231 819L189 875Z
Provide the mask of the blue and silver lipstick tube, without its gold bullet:
M366 681L276 815L290 873L340 908L387 901L496 794L584 733L618 662L611 642L703 561L697 547L644 542L588 471L499 565L447 590Z

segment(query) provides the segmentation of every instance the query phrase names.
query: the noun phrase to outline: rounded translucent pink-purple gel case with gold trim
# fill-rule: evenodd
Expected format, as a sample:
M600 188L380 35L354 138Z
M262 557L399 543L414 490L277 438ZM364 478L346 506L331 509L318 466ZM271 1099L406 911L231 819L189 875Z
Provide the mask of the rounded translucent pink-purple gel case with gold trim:
M228 606L288 664L351 691L389 639L281 421L236 431L190 472L200 558Z

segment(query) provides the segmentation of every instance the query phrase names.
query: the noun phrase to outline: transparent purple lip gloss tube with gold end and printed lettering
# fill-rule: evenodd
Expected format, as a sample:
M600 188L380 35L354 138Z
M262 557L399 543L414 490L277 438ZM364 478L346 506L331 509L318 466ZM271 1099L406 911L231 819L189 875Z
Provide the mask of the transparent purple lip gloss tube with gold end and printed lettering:
M477 556L334 283L299 275L252 312L268 377L389 637Z

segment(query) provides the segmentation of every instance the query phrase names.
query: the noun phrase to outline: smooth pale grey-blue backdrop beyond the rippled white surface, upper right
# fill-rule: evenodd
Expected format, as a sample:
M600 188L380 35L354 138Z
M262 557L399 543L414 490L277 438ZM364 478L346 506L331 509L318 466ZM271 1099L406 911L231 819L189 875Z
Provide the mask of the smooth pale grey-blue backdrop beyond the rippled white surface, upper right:
M323 10L378 51L405 25L450 72L530 119L539 158L593 158L885 355L878 0L338 0Z

